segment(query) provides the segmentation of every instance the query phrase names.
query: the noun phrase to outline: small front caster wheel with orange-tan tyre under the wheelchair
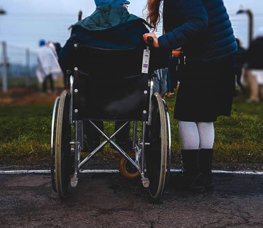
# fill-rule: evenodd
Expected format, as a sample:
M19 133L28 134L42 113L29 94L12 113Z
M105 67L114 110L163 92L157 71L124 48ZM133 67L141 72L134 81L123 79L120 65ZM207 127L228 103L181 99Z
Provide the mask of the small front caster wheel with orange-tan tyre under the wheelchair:
M135 153L133 151L130 151L127 154L131 158L135 159ZM130 179L130 180L136 179L140 175L139 171L130 162L128 162L124 157L120 159L119 170L120 170L120 174L122 174L123 177Z

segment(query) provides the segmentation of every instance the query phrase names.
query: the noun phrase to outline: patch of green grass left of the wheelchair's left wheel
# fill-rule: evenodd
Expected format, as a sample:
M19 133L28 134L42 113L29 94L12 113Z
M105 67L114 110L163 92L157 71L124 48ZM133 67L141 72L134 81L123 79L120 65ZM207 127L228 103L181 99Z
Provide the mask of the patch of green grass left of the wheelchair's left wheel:
M47 162L52 105L0 107L0 163Z

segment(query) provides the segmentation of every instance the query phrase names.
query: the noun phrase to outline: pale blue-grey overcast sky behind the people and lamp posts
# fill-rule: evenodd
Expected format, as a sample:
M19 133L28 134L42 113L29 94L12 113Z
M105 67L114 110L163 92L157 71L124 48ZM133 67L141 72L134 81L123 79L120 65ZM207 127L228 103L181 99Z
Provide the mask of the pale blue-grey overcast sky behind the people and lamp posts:
M147 0L129 1L129 12L143 16ZM256 32L263 26L263 0L224 2L230 13L235 35L247 46L247 18L245 15L236 16L235 13L240 5L245 9L252 9L255 13ZM95 4L94 0L0 0L1 7L8 14L0 15L0 41L36 50L39 39L54 40L63 45L70 35L68 27L77 21L79 10L83 11L83 18L87 17L94 11ZM161 31L162 29L158 29L159 35Z

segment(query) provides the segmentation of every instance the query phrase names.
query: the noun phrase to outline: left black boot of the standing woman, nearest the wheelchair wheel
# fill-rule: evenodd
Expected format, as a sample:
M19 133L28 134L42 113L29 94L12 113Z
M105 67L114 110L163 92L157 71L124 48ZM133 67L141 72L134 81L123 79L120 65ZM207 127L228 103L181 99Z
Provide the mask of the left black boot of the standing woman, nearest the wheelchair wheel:
M203 190L198 165L199 150L182 150L182 172L172 180L172 187L178 190Z

